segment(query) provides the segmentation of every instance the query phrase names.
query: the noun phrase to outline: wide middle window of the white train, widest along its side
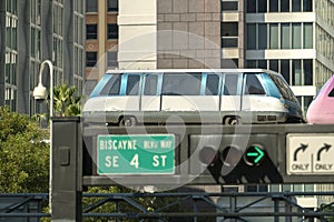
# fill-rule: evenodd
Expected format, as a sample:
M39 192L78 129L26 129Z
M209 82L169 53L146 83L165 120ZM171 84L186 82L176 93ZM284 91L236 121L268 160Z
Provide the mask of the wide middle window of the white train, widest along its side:
M200 73L165 73L163 80L164 95L199 95Z

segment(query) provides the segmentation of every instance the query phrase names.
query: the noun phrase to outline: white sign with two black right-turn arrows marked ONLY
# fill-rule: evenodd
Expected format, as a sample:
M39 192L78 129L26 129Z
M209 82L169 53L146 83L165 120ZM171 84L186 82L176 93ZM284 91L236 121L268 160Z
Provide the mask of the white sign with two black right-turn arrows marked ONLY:
M287 174L334 174L334 133L289 133Z

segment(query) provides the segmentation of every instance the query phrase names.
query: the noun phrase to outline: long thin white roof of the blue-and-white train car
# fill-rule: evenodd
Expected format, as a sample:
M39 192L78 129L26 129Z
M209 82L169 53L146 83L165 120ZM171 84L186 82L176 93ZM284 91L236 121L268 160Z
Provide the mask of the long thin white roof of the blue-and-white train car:
M268 72L273 74L279 74L272 70L266 69L156 69L156 70L149 70L149 69L143 69L143 70L108 70L106 73L160 73L160 72Z

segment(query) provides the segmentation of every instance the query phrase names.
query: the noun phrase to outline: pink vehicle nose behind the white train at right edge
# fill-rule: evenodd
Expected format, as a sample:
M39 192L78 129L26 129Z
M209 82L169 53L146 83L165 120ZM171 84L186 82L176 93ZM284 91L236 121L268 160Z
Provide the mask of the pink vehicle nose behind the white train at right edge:
M334 124L334 75L323 85L306 113L308 123Z

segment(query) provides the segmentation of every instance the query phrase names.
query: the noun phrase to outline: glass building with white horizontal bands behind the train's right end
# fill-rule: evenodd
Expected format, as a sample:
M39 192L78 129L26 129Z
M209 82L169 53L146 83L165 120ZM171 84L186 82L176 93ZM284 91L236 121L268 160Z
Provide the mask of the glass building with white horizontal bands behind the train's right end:
M222 0L222 67L238 59L234 62L238 68L281 72L306 111L334 72L333 4L332 0Z

